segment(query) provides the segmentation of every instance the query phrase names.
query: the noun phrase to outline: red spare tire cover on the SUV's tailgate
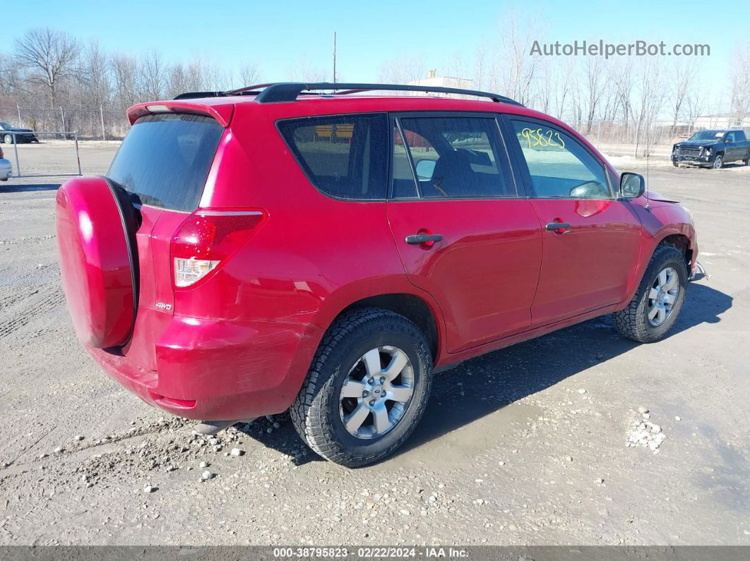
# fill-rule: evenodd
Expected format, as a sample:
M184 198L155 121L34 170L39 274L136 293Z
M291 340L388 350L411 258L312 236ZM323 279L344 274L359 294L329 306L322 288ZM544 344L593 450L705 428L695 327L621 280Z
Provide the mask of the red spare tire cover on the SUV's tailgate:
M124 345L137 310L136 211L107 178L76 178L57 192L60 272L83 345Z

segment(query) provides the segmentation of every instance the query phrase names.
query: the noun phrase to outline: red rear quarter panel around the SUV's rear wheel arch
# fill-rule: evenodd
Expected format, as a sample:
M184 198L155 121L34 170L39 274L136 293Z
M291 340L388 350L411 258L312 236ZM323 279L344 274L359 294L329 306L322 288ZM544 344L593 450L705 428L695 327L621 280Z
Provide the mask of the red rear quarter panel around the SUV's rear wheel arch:
M441 316L437 303L407 279L386 201L342 201L317 191L275 120L270 111L235 112L201 206L260 207L268 219L211 279L175 291L175 315L313 327L315 344L296 360L293 376L301 383L320 337L357 300L416 294Z

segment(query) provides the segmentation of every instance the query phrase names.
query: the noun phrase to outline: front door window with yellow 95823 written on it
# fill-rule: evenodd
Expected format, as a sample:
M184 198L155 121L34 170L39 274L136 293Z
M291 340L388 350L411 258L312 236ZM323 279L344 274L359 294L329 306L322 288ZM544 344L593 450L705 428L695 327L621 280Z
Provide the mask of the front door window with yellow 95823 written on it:
M611 198L604 166L568 133L511 119L538 198Z

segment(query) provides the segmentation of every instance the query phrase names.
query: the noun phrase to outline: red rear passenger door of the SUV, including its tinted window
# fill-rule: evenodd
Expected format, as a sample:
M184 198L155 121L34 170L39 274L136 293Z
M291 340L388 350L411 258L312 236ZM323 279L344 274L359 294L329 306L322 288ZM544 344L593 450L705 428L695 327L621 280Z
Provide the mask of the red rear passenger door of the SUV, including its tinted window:
M392 118L388 217L410 281L446 318L449 352L525 330L541 225L491 114Z

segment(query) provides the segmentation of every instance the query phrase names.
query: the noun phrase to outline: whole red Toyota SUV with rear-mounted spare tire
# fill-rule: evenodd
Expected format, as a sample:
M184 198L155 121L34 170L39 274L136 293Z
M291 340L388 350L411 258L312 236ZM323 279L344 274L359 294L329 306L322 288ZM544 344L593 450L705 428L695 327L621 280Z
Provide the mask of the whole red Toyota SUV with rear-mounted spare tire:
M640 175L496 94L335 87L141 103L107 176L59 189L74 327L118 383L204 421L289 409L360 466L434 372L604 314L640 342L673 326L695 231Z

